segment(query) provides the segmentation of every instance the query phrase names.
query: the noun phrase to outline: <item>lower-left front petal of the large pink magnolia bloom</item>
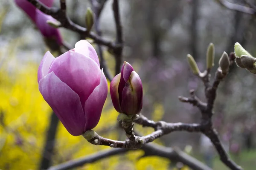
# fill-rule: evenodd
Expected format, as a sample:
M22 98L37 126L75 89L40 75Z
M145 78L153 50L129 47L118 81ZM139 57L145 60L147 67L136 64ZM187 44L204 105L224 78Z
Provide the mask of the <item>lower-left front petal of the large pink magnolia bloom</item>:
M78 94L54 72L39 81L39 91L71 135L84 133L85 116Z

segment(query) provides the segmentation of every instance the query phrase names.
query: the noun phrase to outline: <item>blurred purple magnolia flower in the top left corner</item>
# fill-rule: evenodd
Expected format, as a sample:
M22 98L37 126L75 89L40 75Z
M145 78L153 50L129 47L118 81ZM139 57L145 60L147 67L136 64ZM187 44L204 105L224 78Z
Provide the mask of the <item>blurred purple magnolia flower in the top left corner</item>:
M40 0L46 6L51 7L53 0ZM41 34L44 35L46 38L52 38L56 40L58 45L62 45L62 38L60 31L58 28L53 28L49 26L47 20L56 21L53 17L44 14L39 9L35 8L31 3L27 0L15 0L17 6L19 6L26 14L30 17L30 19L35 23L37 28L41 31Z

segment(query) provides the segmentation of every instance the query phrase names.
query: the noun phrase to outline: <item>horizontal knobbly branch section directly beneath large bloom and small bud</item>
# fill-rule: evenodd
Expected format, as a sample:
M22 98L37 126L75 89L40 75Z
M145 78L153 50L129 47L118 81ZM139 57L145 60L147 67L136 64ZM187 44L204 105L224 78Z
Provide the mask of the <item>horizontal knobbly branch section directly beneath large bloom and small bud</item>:
M141 119L140 119L141 117ZM125 141L116 141L112 139L107 139L102 136L99 136L98 133L93 130L89 130L84 133L84 138L87 139L88 142L95 145L106 145L110 147L119 147L119 148L128 148L128 149L139 149L143 145L153 142L155 139L160 138L163 135L172 133L173 131L187 131L187 132L201 132L201 125L199 124L186 124L186 123L166 123L163 121L147 123L148 119L145 116L139 116L135 122L141 123L142 125L148 125L153 127L155 131L146 136L135 136L133 133L133 125L134 123L128 124L123 121L122 125L128 136L128 139ZM145 124L144 124L145 123ZM125 125L124 125L125 124Z

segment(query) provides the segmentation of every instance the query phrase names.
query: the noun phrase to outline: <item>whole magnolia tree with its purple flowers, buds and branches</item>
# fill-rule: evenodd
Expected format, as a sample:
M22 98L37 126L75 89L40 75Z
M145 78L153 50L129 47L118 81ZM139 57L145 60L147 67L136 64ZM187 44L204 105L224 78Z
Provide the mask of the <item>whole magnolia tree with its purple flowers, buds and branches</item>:
M73 23L66 14L66 2L60 0L60 7L52 7L53 0L15 0L19 6L38 27L44 36L46 44L52 51L58 51L59 57L53 57L47 51L38 68L39 91L45 101L52 108L58 119L73 136L84 136L94 145L107 145L113 149L96 153L83 159L73 160L64 164L52 166L51 170L64 170L81 166L88 162L97 161L108 156L128 152L129 150L144 150L144 156L161 156L174 161L180 161L195 170L210 170L200 161L192 158L180 150L174 150L163 146L149 144L161 136L174 131L199 132L207 136L217 150L221 161L232 170L242 170L230 159L224 150L218 136L218 132L212 126L214 102L217 95L218 85L224 81L230 66L236 62L241 68L245 68L256 74L256 58L251 56L237 42L235 53L229 55L224 52L218 62L213 82L210 82L210 71L214 62L214 45L210 43L207 50L206 70L201 72L194 58L188 54L187 60L193 74L204 83L206 101L201 101L195 91L190 91L189 97L179 96L180 102L187 102L201 111L200 123L170 123L164 121L154 122L140 113L143 107L143 85L140 76L128 63L122 61L123 36L122 23L119 16L119 1L113 0L113 14L116 24L116 40L106 40L100 36L99 17L107 0L90 0L93 11L87 8L86 26L81 27ZM245 10L251 14L254 8L237 6L219 0L219 3L234 10ZM250 9L250 10L249 10ZM255 13L255 10L254 10ZM253 13L253 14L254 14ZM95 24L95 32L91 30ZM61 37L58 27L64 27L75 31L99 47L99 58L96 50L87 40L76 42L75 47L69 47ZM102 54L102 46L108 47L115 58L115 74L112 78ZM123 64L122 64L123 63ZM122 65L122 67L121 67ZM119 112L117 121L127 136L125 141L116 141L99 136L92 129L99 122L102 108L108 94L107 79L111 81L110 94L113 107ZM56 122L57 123L57 122ZM146 136L140 136L134 132L133 126L137 123L143 127L152 127L154 132ZM132 151L131 151L132 152Z

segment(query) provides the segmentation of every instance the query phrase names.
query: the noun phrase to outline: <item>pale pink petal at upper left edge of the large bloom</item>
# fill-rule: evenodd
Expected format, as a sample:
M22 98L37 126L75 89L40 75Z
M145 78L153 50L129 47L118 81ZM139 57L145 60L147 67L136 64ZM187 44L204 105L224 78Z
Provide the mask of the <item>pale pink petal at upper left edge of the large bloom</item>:
M52 64L52 61L54 60L55 58L53 57L53 55L50 53L50 51L47 51L45 54L44 54L44 57L39 65L39 68L38 68L38 83L39 81L44 78L47 74L48 74L48 71L49 71L49 68L50 68L50 65Z

